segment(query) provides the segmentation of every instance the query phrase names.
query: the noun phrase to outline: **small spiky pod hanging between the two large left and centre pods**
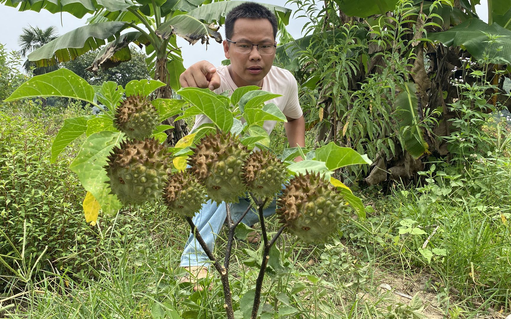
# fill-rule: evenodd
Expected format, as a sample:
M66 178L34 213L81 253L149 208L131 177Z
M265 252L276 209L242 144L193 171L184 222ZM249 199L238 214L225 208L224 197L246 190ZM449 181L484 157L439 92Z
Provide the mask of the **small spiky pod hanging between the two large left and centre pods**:
M164 198L169 209L184 217L193 217L206 202L206 188L188 170L168 177Z

